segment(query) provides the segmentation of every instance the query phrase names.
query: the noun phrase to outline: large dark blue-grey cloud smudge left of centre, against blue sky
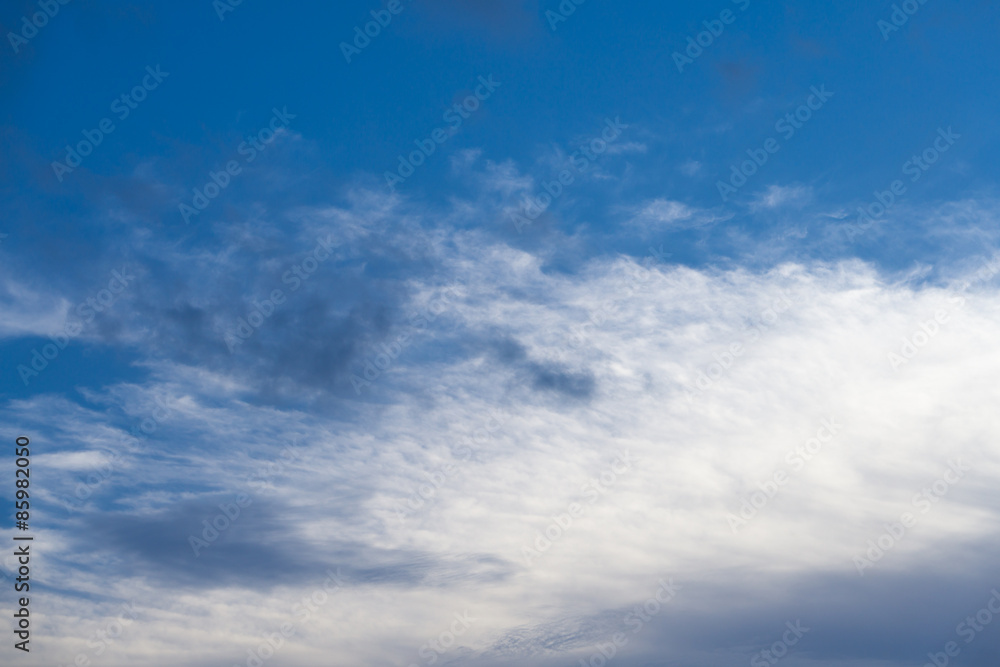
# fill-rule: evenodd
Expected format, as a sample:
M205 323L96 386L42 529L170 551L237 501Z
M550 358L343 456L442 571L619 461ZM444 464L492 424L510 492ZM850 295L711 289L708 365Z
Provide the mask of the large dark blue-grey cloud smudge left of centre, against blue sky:
M435 266L425 250L396 247L409 242L393 233L333 242L304 274L317 248L327 252L317 239L338 231L304 240L263 233L224 253L203 241L198 251L144 258L135 294L116 311L141 331L130 342L142 354L230 375L254 402L356 397L351 375L409 327L407 284ZM106 328L109 341L125 342L119 320Z

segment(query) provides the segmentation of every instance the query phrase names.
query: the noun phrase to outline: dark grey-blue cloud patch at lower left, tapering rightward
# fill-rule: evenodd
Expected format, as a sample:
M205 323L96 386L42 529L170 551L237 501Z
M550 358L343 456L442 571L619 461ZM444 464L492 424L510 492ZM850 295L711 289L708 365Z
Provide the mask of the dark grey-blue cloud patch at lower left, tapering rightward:
M347 541L317 549L289 530L289 523L298 525L289 520L290 508L260 497L237 508L238 516L234 507L230 494L151 515L102 512L89 518L77 549L88 554L88 561L101 563L94 567L108 569L109 576L152 575L163 585L204 589L306 585L338 568L353 584L407 587L496 582L513 571L492 556L442 558Z

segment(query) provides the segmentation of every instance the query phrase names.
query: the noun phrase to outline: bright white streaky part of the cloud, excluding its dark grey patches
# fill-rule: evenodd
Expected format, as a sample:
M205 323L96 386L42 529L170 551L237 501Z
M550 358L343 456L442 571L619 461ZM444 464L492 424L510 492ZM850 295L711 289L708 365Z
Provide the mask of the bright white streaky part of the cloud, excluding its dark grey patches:
M690 215L676 202L647 208L671 220ZM419 648L465 609L477 621L460 644L486 660L508 631L628 607L663 576L692 584L671 603L685 613L708 604L693 585L711 578L706 573L856 577L852 557L885 523L918 511L913 495L938 479L949 459L972 470L866 576L933 568L938 558L957 557L992 534L1000 509L991 491L1000 476L1000 427L992 418L1000 398L1000 294L987 280L959 294L893 284L858 261L753 273L644 269L627 258L594 260L568 276L476 233L453 240L434 278L461 285L448 326L408 349L373 386L374 402L353 406L348 421L211 396L191 369L170 364L158 367L156 384L131 390L136 419L167 385L171 395L187 398L162 427L164 438L147 441L146 455L102 491L119 504L149 512L183 501L174 492L152 504L129 502L146 497L140 491L154 483L235 489L259 465L255 457L294 437L304 447L301 462L266 492L268 503L287 508L286 539L301 540L303 553L331 563L343 558L345 541L401 558L422 553L450 564L452 574L441 581L464 582L352 586L281 650L281 664L314 664L320 654L342 664L419 663ZM411 287L417 295L430 289L422 282ZM894 370L889 353L902 353L903 339L913 341L942 310L946 322ZM593 395L581 399L532 383L523 366L484 346L498 338L516 341L537 367L589 374ZM737 343L740 352L730 359ZM454 353L460 349L466 353ZM700 374L710 379L701 388ZM52 414L49 400L20 406L21 419ZM502 425L463 460L466 437L497 408L506 413ZM64 412L60 428L93 428L73 426L88 411ZM842 424L834 440L793 471L787 452L829 419ZM587 502L584 485L600 479L619 450L634 465L527 566L522 548L534 546L570 503ZM170 457L169 470L158 462L162 456ZM442 478L444 466L453 472ZM787 483L734 534L727 516L776 470L788 474ZM47 484L58 495L73 482L53 477ZM433 487L429 499L401 522L394 507L421 485ZM53 525L61 534L77 530ZM47 576L86 581L79 572L68 576L70 546L64 549L67 560L48 562ZM472 571L460 563L470 554L494 559L483 561L486 579L468 579ZM198 566L192 559L190 567ZM719 580L733 597L754 595L752 584L730 575ZM103 663L134 664L135 656L156 651L163 664L202 664L201 649L190 648L197 642L178 638L208 628L205 641L211 636L218 660L241 660L312 588L193 596L123 577L116 594L141 595L147 612ZM42 653L66 661L85 643L87 630L73 634L70 627L89 603L49 595L62 609L52 617L57 634L76 640L61 642L59 655L54 648ZM596 641L606 626L595 627ZM683 650L692 664L708 659ZM536 660L547 655L560 664L575 660L556 650Z

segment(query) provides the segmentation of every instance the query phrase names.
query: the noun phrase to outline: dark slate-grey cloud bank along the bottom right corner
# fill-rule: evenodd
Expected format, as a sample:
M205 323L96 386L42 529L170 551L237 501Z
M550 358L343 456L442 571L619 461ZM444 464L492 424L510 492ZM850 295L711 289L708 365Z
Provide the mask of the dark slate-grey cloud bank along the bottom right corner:
M622 667L698 665L745 667L760 651L788 634L790 623L801 637L782 658L802 664L922 665L928 653L941 653L955 642L961 653L949 664L991 667L1000 654L994 620L972 633L975 616L1000 591L1000 575L987 558L995 543L970 547L978 556L961 569L915 569L908 572L815 573L791 576L762 572L720 573L700 580L675 581L677 597L636 613L649 598L502 632L485 650L456 664L525 666L576 663L589 659L615 633L626 644L614 662ZM994 602L996 606L997 602ZM642 620L640 623L639 621ZM965 623L962 635L956 632ZM971 639L971 641L967 641ZM760 664L769 664L766 660Z

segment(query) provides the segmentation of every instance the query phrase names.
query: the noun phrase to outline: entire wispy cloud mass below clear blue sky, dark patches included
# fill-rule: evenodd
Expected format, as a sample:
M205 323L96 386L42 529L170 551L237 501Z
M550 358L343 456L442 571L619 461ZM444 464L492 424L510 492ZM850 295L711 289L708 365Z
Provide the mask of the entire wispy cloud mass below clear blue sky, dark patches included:
M553 215L544 234L514 238L483 221L537 178L477 153L456 160L477 168L463 172L467 197L442 206L348 188L266 214L251 201L247 220L217 219L204 237L136 232L142 277L88 343L127 350L142 373L2 408L51 443L35 464L61 636L85 646L69 628L90 600L135 597L147 620L106 664L206 664L184 636L237 660L340 568L352 583L283 653L292 667L331 653L420 662L466 610L477 620L442 662L565 664L672 577L683 594L619 664L745 664L808 616L815 641L799 657L885 667L935 627L945 640L995 585L991 264L838 260L840 242L807 233L799 186L770 188L761 206L833 259L789 261L787 244L663 197L612 209L625 220L614 232L561 229ZM988 200L952 202L911 224L988 249L994 217ZM669 235L754 261L667 264L683 252L673 238L675 257L625 251ZM318 239L329 257L292 290L284 276ZM286 299L260 309L276 288ZM50 305L79 300L51 289ZM255 309L268 313L230 351L226 335ZM157 400L169 414L150 421ZM795 453L831 420L821 451ZM616 469L618 457L630 464ZM959 459L971 469L922 512L914 496ZM248 492L195 557L191 535ZM862 576L855 558L905 512L919 523ZM959 560L966 578L945 586L935 573ZM906 590L939 611L885 601ZM816 602L828 599L832 611ZM859 627L857 609L882 615ZM61 642L40 659L65 662L57 648L79 650Z

